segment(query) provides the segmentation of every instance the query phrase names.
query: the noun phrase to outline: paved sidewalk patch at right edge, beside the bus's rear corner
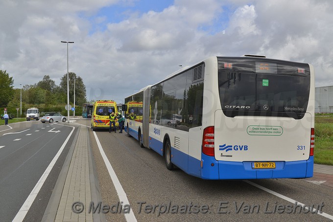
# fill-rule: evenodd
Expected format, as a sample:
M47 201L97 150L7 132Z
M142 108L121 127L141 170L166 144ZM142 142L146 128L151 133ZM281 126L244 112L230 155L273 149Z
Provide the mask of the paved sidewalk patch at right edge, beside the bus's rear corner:
M305 179L314 184L333 187L333 166L314 164L313 177Z

